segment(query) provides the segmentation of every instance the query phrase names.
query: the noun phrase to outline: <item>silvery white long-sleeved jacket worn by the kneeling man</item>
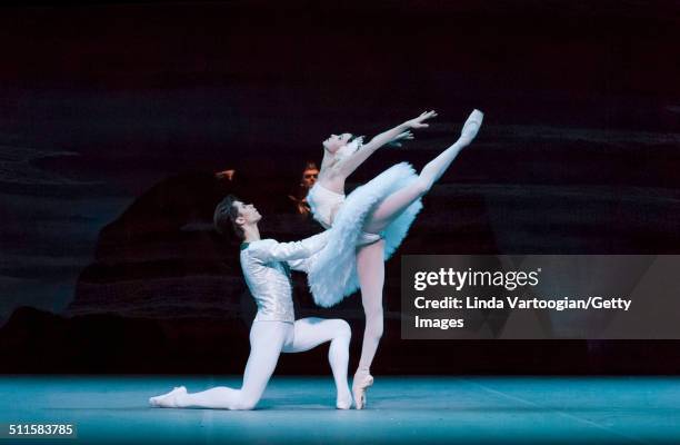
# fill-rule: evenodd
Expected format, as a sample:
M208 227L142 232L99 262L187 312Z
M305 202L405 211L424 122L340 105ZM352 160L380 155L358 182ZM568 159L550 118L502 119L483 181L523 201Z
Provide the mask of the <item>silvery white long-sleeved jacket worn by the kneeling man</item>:
M310 257L326 246L328 234L293 243L260 239L241 245L241 268L258 304L256 322L296 320L290 268L307 271Z

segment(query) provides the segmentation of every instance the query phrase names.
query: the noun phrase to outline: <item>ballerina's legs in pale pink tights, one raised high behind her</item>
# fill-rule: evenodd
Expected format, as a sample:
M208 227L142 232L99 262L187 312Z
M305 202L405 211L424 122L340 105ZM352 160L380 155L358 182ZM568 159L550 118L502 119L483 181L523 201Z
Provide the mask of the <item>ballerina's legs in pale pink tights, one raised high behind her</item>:
M420 171L418 179L384 198L369 216L363 230L369 234L380 234L413 201L426 195L447 171L460 150L470 145L477 136L482 118L483 115L474 110L466 121L460 138L437 158L428 162ZM358 249L357 273L361 288L361 303L366 315L366 328L361 358L354 378L370 373L382 336L382 288L384 285L384 241L382 239Z

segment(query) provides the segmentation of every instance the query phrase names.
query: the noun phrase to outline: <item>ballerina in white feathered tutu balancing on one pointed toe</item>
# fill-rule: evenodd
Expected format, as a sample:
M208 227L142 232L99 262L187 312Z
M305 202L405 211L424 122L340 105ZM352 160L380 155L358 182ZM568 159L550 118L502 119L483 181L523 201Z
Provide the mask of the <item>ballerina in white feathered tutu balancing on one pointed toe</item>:
M383 171L347 198L344 181L357 167L386 144L412 139L411 129L428 127L434 111L384 131L368 144L352 135L331 135L323 141L319 179L307 199L312 215L324 228L332 226L329 243L316 255L308 270L310 289L318 305L330 307L361 288L366 328L361 358L352 382L357 409L366 406L366 390L372 385L370 367L383 330L382 288L384 261L406 237L422 208L420 198L443 175L460 150L474 139L483 113L472 111L460 138L423 167L420 175L401 162ZM350 141L351 140L351 141Z

